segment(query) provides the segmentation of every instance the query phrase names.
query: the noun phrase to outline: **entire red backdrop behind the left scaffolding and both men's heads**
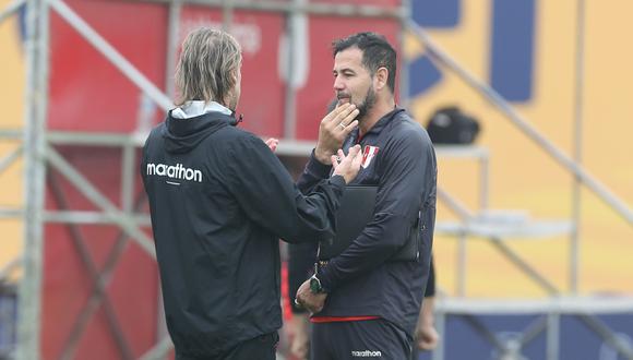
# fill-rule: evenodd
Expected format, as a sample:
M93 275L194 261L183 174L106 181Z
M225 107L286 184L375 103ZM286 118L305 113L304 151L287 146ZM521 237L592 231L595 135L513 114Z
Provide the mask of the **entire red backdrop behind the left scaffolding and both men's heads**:
M138 67L158 87L165 83L167 8L150 2L67 0L99 34ZM359 0L356 2L360 3ZM397 1L362 1L385 4ZM219 11L184 7L181 38L193 27L216 24ZM112 22L116 19L116 23ZM279 77L282 15L238 11L234 34L243 49L242 127L260 135L282 136L285 85ZM116 24L116 25L115 25ZM322 16L309 20L310 70L297 97L297 135L315 139L319 121L333 97L333 39L371 29L395 41L398 25L387 20L354 20ZM130 132L136 128L140 89L58 15L51 16L51 69L48 125L53 130ZM157 110L156 117L163 118ZM119 205L120 152L106 148L65 148L67 159ZM71 209L96 206L68 181L62 188ZM140 189L140 187L136 187ZM49 208L56 208L48 193ZM110 226L82 226L91 255L103 267L120 232ZM59 358L72 325L93 289L88 272L71 242L68 229L49 225L45 229L43 301L43 358ZM129 244L108 286L108 295L134 356L150 349L155 338L157 314L157 268L136 244ZM120 353L103 310L92 319L75 352L77 359L117 359Z

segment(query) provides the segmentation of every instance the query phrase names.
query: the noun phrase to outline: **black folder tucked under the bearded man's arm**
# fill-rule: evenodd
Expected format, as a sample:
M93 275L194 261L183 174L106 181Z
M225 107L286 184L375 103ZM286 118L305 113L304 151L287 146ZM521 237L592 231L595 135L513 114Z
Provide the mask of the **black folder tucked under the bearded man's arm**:
M319 243L319 260L327 261L347 249L373 218L378 187L348 185L336 212L334 239ZM403 248L390 261L417 261L419 257L420 219L411 227Z

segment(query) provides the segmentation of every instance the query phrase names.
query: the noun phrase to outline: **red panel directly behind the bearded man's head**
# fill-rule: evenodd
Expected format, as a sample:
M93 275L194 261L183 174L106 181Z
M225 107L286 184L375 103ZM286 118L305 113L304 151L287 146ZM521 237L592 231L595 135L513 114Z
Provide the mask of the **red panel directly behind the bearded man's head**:
M297 92L297 139L300 140L316 140L319 123L334 98L333 40L371 31L384 35L398 49L399 23L396 21L313 16L309 26L310 73L306 86Z

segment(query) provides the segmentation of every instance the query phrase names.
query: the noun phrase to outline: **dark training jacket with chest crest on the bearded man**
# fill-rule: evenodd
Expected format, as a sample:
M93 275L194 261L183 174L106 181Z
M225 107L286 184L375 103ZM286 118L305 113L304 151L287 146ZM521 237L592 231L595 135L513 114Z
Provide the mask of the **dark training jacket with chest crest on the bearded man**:
M344 148L359 143L363 163L351 184L378 185L373 219L343 253L320 271L330 293L316 316L380 316L413 337L429 278L435 221L437 163L432 143L403 109L381 118L360 141L358 129ZM332 167L312 157L298 184L312 189ZM420 259L391 261L421 215Z

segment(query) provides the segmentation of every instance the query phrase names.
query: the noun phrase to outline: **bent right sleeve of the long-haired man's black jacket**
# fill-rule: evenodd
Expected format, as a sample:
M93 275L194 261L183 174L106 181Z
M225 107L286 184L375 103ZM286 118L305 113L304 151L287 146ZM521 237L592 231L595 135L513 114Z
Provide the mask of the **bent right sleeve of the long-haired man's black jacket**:
M303 195L279 159L255 136L228 151L227 181L246 215L288 242L331 239L345 180L319 181Z

